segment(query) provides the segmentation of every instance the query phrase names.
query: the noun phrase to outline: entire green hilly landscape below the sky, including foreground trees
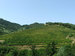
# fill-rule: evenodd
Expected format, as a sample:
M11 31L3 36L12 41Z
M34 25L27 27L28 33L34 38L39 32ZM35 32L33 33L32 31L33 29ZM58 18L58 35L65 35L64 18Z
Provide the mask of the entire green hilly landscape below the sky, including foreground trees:
M19 25L0 19L0 56L75 56L75 25Z

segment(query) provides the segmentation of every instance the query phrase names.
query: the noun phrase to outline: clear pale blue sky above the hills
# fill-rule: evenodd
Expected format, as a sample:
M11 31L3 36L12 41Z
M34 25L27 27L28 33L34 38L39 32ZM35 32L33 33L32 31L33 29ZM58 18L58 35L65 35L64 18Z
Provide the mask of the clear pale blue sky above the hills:
M75 0L0 0L0 18L10 22L75 24Z

